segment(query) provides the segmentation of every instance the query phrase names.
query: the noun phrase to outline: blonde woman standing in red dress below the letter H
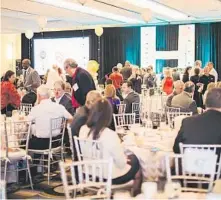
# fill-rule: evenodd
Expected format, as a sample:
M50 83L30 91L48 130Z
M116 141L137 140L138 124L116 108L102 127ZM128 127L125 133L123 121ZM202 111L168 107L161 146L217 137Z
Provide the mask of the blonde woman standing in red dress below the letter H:
M162 90L167 95L170 95L173 92L173 78L171 75L170 68L164 70L164 79L162 80Z

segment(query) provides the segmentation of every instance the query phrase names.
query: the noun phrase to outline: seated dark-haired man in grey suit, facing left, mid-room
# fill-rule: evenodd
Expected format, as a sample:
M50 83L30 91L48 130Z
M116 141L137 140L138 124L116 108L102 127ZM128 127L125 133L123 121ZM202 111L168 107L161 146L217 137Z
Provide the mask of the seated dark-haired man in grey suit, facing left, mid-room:
M122 85L124 103L126 104L125 113L132 113L132 104L140 103L140 96L132 89L132 82L125 81Z

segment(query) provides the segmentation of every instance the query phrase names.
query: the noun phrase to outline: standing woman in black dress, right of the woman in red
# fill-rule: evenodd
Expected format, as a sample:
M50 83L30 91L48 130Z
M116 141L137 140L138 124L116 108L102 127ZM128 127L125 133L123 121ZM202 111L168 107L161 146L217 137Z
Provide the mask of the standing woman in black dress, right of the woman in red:
M193 95L193 99L196 101L196 105L197 107L202 107L203 106L203 101L202 101L202 94L199 93L199 88L200 88L200 69L199 68L195 68L194 69L194 76L190 77L190 81L192 81L195 84L195 91L194 91L194 95Z

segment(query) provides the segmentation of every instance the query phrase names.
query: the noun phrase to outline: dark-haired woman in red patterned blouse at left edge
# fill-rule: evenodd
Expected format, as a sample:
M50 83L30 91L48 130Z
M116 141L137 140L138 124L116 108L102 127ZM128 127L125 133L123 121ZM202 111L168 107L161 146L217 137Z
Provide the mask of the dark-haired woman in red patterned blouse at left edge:
M6 114L7 111L15 110L20 106L20 96L13 84L15 78L15 73L9 70L1 82L1 114Z

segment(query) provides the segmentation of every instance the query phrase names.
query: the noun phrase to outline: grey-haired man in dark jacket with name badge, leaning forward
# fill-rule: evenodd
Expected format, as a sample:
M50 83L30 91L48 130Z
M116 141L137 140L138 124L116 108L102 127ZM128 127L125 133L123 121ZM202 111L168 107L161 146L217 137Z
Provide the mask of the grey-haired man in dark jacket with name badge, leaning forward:
M85 104L87 93L96 90L94 80L88 71L78 67L74 59L68 58L64 62L65 72L72 77L72 105L78 108Z

